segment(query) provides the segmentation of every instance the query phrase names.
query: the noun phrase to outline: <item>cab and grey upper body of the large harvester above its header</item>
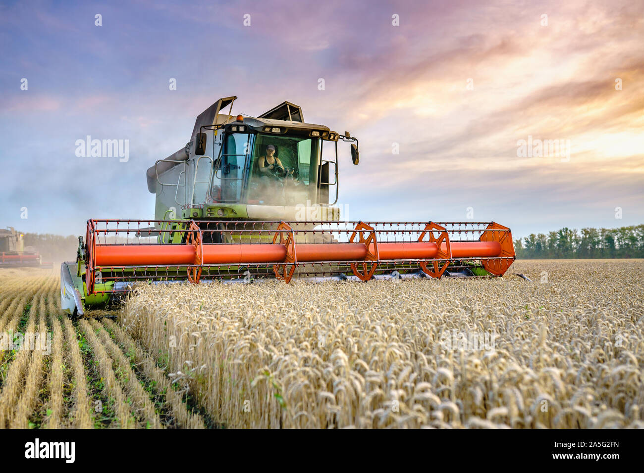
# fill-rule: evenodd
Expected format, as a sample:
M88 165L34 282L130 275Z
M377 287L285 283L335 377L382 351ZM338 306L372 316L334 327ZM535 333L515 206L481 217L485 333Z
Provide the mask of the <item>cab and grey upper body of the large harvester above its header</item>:
M155 219L290 221L308 205L316 219L339 220L337 142L353 142L357 164L357 140L304 122L291 102L257 117L233 116L235 99L205 109L185 147L147 170ZM325 147L332 158L323 158Z

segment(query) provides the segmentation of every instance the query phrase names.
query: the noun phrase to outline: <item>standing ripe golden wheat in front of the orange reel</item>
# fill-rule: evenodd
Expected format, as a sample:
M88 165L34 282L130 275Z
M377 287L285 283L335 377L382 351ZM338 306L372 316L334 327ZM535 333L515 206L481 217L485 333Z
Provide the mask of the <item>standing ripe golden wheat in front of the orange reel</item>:
M139 286L120 322L229 427L644 427L644 261L513 270Z

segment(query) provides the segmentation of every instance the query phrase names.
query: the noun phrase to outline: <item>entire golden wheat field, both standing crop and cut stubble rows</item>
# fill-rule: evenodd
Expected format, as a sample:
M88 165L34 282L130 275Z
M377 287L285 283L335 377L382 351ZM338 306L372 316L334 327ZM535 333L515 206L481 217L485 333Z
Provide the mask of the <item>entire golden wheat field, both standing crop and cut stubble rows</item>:
M50 353L0 350L0 427L641 428L642 281L643 260L554 260L144 285L70 320L53 272L0 270L0 333L52 335Z

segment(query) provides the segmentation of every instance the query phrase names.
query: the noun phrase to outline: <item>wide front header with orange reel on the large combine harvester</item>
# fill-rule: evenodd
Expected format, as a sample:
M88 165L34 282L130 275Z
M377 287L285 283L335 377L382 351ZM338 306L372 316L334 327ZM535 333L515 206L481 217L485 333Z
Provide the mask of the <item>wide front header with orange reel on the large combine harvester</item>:
M89 220L61 295L72 313L137 282L493 277L514 260L510 229L495 222Z

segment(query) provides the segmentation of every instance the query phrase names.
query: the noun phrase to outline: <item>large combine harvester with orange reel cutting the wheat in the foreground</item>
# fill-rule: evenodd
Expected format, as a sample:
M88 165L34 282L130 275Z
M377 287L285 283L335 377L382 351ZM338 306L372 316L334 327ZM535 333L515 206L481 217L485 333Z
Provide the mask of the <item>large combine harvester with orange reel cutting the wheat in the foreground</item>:
M357 165L357 139L305 123L290 102L232 116L235 99L147 170L154 220L88 221L77 261L61 266L64 310L82 315L137 282L492 277L515 260L495 222L340 221L337 143L351 142Z

